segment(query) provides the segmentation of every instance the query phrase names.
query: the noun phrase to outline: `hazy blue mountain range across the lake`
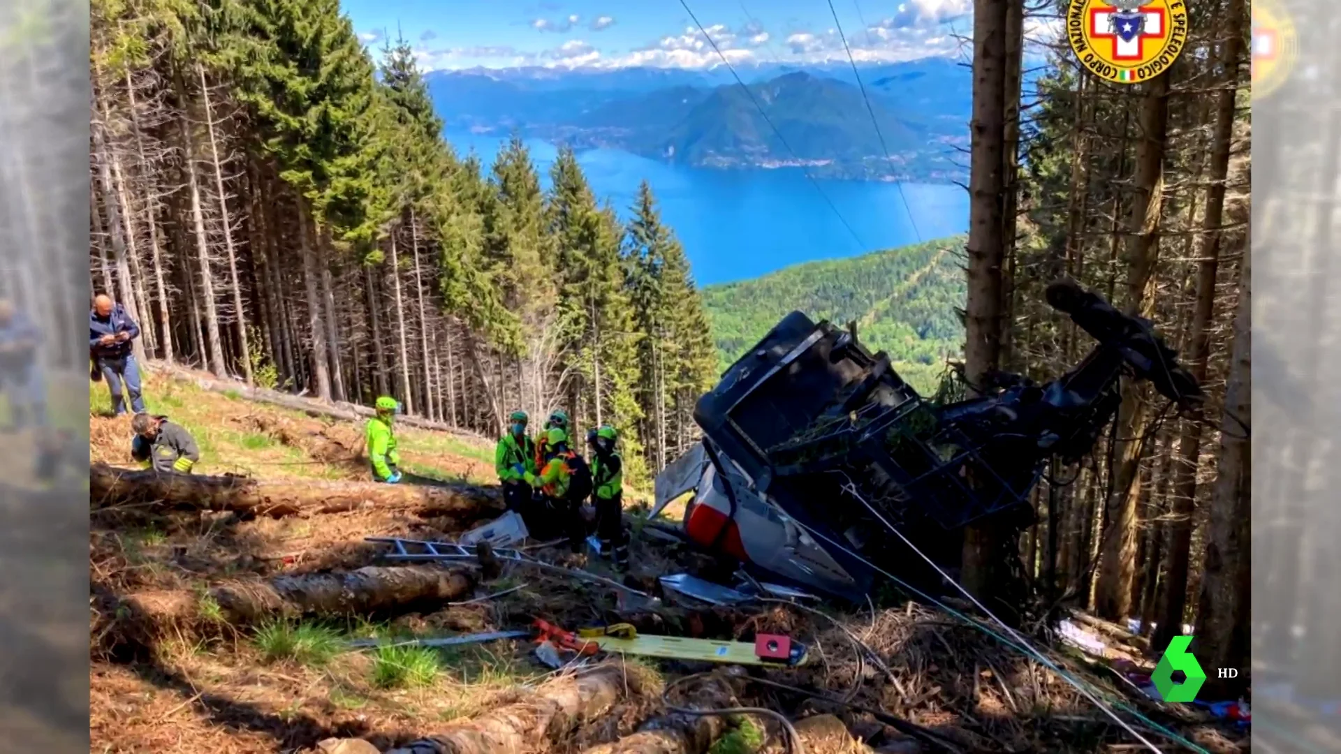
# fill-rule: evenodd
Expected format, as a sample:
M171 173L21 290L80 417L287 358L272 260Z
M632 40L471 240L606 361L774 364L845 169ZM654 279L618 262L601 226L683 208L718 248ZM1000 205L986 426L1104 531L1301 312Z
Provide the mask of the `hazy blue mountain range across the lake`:
M449 130L518 131L704 168L807 165L817 177L966 180L956 146L968 144L968 70L927 58L858 71L861 86L850 66L837 63L735 72L468 68L432 72L428 85Z

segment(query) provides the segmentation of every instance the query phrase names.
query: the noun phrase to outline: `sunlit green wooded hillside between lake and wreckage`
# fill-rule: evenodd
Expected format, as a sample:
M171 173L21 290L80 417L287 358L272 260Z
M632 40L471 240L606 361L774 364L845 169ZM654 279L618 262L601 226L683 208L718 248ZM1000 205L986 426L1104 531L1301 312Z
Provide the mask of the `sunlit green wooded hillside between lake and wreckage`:
M857 321L857 335L884 350L924 394L947 356L963 350L964 237L809 262L760 278L703 290L721 369L755 345L789 311L837 325Z

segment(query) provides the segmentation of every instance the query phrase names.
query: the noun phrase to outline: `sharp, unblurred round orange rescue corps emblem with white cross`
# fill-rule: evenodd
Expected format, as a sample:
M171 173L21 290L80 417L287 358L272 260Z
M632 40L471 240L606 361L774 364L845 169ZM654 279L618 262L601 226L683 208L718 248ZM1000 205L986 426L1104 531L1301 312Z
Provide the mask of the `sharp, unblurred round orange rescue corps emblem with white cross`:
M1066 39L1082 66L1113 83L1167 71L1187 44L1183 0L1070 0Z

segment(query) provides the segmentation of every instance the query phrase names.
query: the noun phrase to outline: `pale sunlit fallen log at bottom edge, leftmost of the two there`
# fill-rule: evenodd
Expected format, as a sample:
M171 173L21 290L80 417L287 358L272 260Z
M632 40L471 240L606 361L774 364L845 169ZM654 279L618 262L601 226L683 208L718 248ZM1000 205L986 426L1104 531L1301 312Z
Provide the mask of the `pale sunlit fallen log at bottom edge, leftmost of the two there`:
M614 707L625 686L637 692L637 676L618 664L602 664L581 675L542 684L528 698L477 718L452 723L441 733L386 754L523 754L555 742L578 724Z

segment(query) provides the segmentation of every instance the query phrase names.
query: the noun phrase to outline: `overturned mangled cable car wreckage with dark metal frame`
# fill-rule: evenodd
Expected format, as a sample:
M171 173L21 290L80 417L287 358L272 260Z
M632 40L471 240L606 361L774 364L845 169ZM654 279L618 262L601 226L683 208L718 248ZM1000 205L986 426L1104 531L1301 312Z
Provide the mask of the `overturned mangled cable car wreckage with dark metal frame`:
M1050 382L996 374L980 397L945 404L919 396L853 329L793 311L699 400L704 439L657 476L652 515L692 491L681 537L829 597L865 600L874 566L931 574L892 529L952 569L968 523L1033 523L1049 459L1092 451L1124 376L1180 411L1202 400L1148 321L1071 280L1046 298L1097 341L1089 354Z

